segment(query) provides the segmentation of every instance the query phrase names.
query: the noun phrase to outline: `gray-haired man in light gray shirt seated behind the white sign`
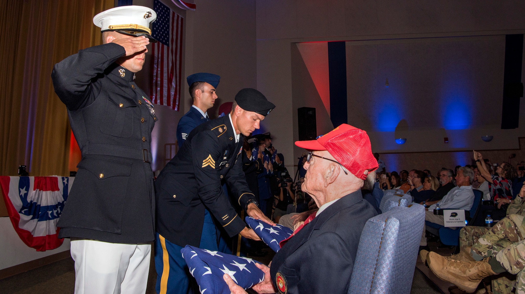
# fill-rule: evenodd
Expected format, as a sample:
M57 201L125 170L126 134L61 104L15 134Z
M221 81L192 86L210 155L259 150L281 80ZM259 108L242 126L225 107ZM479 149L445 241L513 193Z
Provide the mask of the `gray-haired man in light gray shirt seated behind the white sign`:
M443 173L442 173L443 174ZM472 208L474 203L474 192L472 192L472 181L474 181L474 172L468 167L461 166L458 169L456 175L457 187L451 189L443 199L439 200L437 203L430 205L425 211L425 220L429 222L445 225L443 220L443 215L435 215L434 208L439 204L439 208L449 208L449 209L465 209L466 211ZM427 241L425 238L426 226L423 226L423 234L421 236L421 243L419 246L426 247Z

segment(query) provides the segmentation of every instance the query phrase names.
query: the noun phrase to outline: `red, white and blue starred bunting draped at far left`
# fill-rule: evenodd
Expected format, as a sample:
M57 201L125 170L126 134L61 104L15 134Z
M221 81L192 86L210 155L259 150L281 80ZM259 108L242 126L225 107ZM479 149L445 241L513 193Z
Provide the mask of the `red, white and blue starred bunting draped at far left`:
M0 176L7 213L16 233L37 251L58 248L56 224L64 208L74 177Z

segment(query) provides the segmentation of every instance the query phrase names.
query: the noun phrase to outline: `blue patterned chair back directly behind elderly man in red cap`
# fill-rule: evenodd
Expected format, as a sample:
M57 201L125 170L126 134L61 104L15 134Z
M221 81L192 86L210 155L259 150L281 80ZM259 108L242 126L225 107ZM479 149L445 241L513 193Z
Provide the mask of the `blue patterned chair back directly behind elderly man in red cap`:
M366 222L349 294L410 292L425 208L415 203L409 206L391 207Z

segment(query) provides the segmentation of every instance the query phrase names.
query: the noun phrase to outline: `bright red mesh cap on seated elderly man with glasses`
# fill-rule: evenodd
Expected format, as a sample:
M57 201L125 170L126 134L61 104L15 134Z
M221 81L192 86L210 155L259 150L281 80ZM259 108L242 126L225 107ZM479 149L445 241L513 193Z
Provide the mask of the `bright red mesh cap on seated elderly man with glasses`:
M328 151L335 160L361 180L366 179L365 170L371 172L379 167L366 132L346 123L317 140L296 141L295 144L307 150Z

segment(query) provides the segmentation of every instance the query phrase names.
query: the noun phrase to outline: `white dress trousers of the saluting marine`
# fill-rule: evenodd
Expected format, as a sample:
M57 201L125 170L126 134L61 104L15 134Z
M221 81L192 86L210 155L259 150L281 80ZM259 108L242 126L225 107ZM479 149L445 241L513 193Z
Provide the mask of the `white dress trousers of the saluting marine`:
M75 294L144 294L151 244L71 239Z

